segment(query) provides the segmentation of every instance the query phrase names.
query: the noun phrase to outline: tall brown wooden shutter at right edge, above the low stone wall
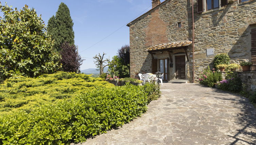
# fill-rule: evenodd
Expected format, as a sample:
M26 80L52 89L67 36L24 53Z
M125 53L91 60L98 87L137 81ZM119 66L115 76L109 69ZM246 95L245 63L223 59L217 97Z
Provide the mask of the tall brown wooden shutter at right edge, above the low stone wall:
M256 71L256 28L251 31L251 43L252 43L252 70Z

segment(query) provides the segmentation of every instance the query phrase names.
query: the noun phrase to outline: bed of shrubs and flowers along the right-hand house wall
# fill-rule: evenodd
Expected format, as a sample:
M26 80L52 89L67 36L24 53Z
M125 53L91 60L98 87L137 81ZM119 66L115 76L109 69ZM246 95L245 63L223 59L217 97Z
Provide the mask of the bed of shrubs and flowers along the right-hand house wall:
M214 67L211 69L208 66L201 72L199 83L204 86L217 87L224 91L241 94L249 98L250 102L256 105L256 93L248 91L237 71L241 70L241 66L242 71L250 71L252 63L230 64L230 60L230 57L225 53L217 54L213 61Z

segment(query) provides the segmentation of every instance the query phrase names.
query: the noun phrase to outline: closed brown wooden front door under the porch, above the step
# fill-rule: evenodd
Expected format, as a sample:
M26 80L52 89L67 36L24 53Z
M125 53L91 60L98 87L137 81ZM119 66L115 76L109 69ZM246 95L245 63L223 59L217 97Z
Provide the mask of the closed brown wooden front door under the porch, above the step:
M175 73L176 79L186 79L186 59L185 55L175 56Z

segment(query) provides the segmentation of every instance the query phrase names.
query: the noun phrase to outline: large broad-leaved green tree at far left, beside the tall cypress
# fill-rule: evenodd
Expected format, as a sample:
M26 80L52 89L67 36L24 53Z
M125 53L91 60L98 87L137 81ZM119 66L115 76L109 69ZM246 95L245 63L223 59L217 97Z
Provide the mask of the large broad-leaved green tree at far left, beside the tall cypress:
M0 4L0 81L13 76L36 77L59 70L60 56L45 32L41 16L25 5L20 11Z

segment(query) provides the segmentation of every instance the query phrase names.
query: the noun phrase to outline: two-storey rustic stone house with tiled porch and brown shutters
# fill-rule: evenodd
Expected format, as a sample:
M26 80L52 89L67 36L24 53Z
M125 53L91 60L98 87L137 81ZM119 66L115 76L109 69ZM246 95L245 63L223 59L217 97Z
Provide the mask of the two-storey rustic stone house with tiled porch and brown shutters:
M166 81L197 81L219 53L256 70L256 0L152 0L127 26L131 77L160 68Z

